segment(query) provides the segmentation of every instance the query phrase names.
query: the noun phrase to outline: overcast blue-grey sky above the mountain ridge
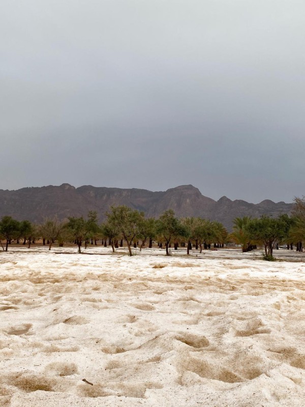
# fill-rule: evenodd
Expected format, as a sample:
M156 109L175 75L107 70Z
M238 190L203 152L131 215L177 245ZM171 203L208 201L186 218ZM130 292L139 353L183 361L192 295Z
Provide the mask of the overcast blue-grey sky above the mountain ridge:
M0 189L305 194L303 0L2 0Z

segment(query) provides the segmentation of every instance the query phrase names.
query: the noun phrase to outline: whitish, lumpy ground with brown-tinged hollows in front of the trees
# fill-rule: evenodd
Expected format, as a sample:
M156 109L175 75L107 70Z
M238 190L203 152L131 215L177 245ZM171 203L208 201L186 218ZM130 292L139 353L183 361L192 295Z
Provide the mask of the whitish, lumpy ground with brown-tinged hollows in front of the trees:
M1 406L303 407L302 261L71 251L0 253Z

